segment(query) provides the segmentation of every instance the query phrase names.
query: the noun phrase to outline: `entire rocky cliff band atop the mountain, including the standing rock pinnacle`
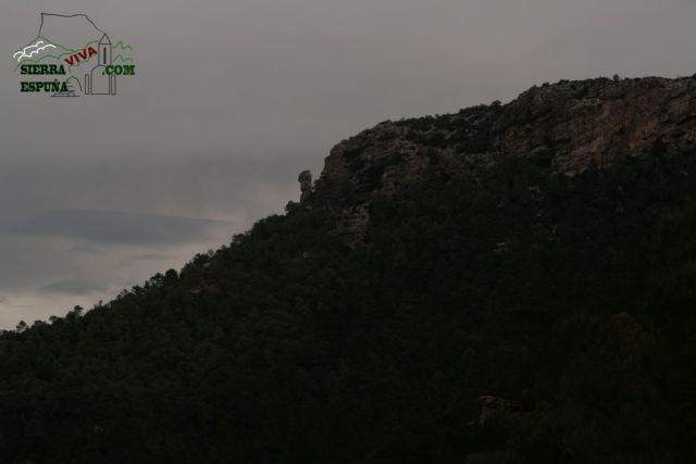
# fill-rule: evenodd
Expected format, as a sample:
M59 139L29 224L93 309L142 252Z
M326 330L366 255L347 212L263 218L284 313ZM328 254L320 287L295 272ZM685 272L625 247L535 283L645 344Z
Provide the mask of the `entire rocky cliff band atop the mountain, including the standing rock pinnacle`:
M688 148L696 148L696 77L564 80L533 87L507 104L381 123L331 150L312 195L358 195L360 211L340 210L336 223L359 238L371 198L398 195L428 173L476 174L517 156L572 176ZM307 179L300 179L302 201L311 191Z

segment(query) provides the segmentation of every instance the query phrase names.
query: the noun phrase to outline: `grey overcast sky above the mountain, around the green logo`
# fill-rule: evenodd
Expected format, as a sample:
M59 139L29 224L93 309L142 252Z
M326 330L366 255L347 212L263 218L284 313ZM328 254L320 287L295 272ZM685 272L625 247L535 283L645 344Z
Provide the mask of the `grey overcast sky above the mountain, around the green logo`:
M133 45L115 97L21 95L40 12ZM91 308L297 200L374 124L534 84L696 72L693 0L23 0L0 5L0 328Z

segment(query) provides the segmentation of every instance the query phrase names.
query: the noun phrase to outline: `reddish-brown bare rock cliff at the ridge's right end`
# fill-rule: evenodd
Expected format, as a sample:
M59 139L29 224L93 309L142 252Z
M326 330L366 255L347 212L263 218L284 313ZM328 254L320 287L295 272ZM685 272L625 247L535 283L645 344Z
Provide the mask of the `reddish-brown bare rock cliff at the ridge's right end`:
M696 79L563 83L532 89L507 108L500 152L554 149L554 168L573 175L651 150L696 141Z

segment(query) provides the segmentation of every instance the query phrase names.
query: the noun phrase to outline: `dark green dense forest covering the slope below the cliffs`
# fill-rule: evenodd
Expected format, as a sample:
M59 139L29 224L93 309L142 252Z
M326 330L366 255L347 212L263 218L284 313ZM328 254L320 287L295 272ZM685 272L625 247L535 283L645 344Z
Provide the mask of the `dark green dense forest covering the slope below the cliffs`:
M0 459L693 463L696 151L550 163L428 170L359 243L315 195L4 333Z

